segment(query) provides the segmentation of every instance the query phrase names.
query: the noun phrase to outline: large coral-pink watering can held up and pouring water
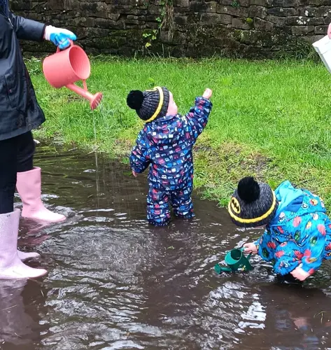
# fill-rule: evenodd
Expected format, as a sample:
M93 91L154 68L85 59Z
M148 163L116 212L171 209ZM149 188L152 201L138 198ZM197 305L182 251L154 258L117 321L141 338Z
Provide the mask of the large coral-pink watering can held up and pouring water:
M67 87L81 97L90 101L91 109L96 109L102 99L102 93L91 94L87 91L86 79L91 73L90 60L85 51L70 41L69 48L46 57L43 61L43 73L50 85L59 89ZM76 81L83 80L83 87L75 85Z

